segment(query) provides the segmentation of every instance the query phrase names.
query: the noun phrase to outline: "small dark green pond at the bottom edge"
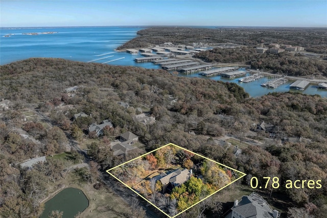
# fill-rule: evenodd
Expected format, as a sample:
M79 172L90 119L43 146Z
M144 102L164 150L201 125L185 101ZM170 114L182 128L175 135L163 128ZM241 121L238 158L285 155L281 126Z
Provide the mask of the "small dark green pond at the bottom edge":
M83 191L77 188L65 188L52 199L45 202L44 211L40 218L49 217L53 210L63 211L62 218L74 217L78 212L84 211L88 207L88 199Z

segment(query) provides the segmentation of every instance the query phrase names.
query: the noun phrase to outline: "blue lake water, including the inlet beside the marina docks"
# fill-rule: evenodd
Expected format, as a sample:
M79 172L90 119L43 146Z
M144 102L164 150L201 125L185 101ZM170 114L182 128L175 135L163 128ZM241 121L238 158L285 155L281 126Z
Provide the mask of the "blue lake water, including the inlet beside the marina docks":
M214 27L206 27L214 28ZM30 57L55 57L67 60L97 62L121 66L136 66L148 69L158 69L152 63L136 63L139 54L115 52L114 49L126 41L136 37L136 32L142 27L60 27L60 28L16 28L1 29L0 31L0 64L27 59ZM40 34L42 32L57 32L54 34ZM39 33L39 35L23 35L22 33ZM10 37L3 37L8 34ZM118 59L118 60L117 60ZM94 61L95 60L95 61ZM198 74L182 75L186 77L201 77L213 80L236 82L242 86L251 97L265 95L269 92L288 92L292 81L279 86L277 89L267 89L260 86L267 78L250 83L238 82L238 79L226 79L220 76L205 77ZM309 95L318 94L327 97L327 91L318 90L309 85L305 91L298 91Z

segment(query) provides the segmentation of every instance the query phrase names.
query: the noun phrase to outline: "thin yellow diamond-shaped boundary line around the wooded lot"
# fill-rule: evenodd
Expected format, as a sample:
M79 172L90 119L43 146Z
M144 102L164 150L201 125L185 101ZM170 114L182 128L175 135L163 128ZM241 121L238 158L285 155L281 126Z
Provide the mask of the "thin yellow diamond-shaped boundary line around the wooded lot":
M143 197L141 194L137 193L134 189L130 188L130 187L129 187L128 185L126 185L123 181L121 181L120 179L118 179L117 177L115 177L112 173L109 172L110 170L113 170L113 169L115 169L115 168L117 168L117 167L120 167L120 166L122 166L122 165L125 165L125 164L127 164L127 163L129 163L129 162L131 162L131 161L136 160L136 159L142 158L142 157L144 157L144 156L146 156L146 155L151 154L152 152L154 152L154 151L156 151L156 150L159 150L159 149L164 148L164 147L169 146L169 145L173 145L173 146L178 147L178 148L180 148L180 149L183 149L183 150L189 151L189 152L191 152L192 154L197 155L197 156L199 156L199 157L201 157L201 158L204 158L204 159L206 159L206 160L212 161L212 162L214 162L214 163L217 163L217 164L219 164L219 165L221 165L221 166L227 167L227 168L229 168L229 169L231 169L231 170L234 170L234 171L236 171L236 172L239 172L239 173L241 173L243 176L241 176L240 178L238 178L238 179L236 179L236 180L234 180L234 181L228 183L228 184L225 185L224 187L222 187L222 188L220 188L219 190L215 191L214 193L208 195L208 196L205 197L204 199L201 199L201 200L198 201L196 204L194 204L194 205L192 205L192 206L186 208L185 210L179 212L178 214L176 214L176 215L174 215L174 216L170 216L170 215L168 215L166 212L164 212L164 211L162 211L160 208L158 208L156 205L154 205L153 203L151 203L148 199L146 199L145 197ZM167 145L164 145L164 146L161 146L161 147L159 147L159 148L157 148L157 149L154 149L154 150L152 150L152 151L150 151L150 152L147 152L147 153L144 154L144 155L141 155L141 156L139 156L139 157L137 157L137 158L134 158L134 159L129 160L129 161L125 162L125 163L122 163L122 164L120 164L120 165L118 165L118 166L115 166L115 167L113 167L113 168L111 168L111 169L108 169L108 170L106 170L106 172L109 173L109 175L111 175L113 178L115 178L116 180L118 180L119 182L121 182L122 184L124 184L127 188L129 188L130 190L132 190L134 193L136 193L139 197L141 197L142 199L144 199L145 201L147 201L149 204L151 204L152 206L154 206L154 207L155 207L156 209L158 209L160 212L162 212L162 213L164 213L165 215L167 215L169 218L174 218L174 217L180 215L181 213L185 212L186 210L188 210L188 209L194 207L195 205L199 204L200 202L204 201L205 199L211 197L212 195L214 195L214 194L217 193L218 191L220 191L220 190L226 188L227 186L231 185L232 183L234 183L234 182L238 181L239 179L241 179L241 178L243 178L243 177L246 176L246 174L245 174L244 172L241 172L241 171L239 171L239 170L237 170L237 169L233 169L233 168L231 168L231 167L229 167L229 166L226 166L226 165L224 165L224 164L218 163L217 161L214 161L214 160L211 160L211 159L209 159L209 158L206 158L206 157L204 157L204 156L202 156L202 155L196 154L195 152L193 152L193 151L191 151L191 150L185 149L185 148L180 147L180 146L178 146L178 145L175 145L175 144L173 144L173 143L169 143L169 144L167 144Z

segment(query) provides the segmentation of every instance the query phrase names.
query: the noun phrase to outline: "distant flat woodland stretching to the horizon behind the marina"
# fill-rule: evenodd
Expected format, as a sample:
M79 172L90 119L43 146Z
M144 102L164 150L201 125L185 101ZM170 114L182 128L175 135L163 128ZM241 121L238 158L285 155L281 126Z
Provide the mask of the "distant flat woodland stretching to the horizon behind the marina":
M215 45L236 43L255 47L264 39L265 44L279 43L305 47L306 51L327 54L327 36L323 28L173 28L152 27L137 32L138 37L118 49L146 48L164 42L188 45L193 42Z

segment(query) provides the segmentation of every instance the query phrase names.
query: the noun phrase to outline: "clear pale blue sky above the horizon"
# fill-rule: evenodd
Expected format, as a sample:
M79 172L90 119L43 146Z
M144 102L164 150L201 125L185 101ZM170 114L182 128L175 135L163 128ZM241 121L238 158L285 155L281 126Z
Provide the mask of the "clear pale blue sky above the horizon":
M327 27L327 1L3 1L1 27Z

